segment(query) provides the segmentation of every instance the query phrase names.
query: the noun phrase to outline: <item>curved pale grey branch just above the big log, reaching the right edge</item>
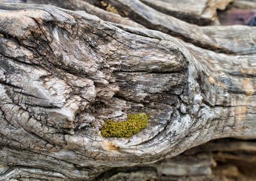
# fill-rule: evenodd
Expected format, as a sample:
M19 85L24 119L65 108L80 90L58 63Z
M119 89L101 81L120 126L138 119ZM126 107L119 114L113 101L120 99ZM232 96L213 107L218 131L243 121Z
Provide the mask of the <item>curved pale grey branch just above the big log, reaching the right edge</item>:
M255 53L255 31L244 26L205 26L188 24L158 12L139 0L108 0L117 9L149 29L156 29L198 47L230 54ZM164 17L164 18L163 18ZM248 36L252 35L252 36Z

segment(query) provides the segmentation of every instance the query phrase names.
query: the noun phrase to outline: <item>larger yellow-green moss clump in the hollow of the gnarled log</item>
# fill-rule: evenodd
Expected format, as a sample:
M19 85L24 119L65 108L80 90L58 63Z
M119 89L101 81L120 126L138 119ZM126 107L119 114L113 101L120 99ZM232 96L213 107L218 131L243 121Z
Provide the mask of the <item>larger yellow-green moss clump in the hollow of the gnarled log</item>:
M105 138L131 138L148 126L150 116L145 113L129 114L127 121L114 122L106 120L101 135Z

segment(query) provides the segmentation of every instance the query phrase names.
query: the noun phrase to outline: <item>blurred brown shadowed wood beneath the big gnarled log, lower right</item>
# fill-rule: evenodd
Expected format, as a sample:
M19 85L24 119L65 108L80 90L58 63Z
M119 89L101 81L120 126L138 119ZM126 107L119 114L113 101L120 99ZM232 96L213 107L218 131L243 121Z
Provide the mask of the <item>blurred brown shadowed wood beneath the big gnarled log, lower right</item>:
M95 180L255 180L255 143L211 141L173 159L115 168Z

